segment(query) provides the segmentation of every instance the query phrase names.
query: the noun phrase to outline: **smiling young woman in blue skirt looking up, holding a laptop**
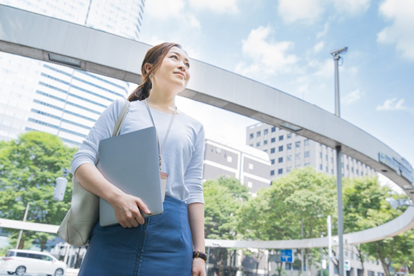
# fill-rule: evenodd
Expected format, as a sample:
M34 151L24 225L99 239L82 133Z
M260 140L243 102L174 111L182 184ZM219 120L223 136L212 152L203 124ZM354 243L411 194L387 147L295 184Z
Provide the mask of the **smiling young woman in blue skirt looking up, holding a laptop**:
M149 210L143 201L110 184L95 166L99 141L111 137L124 106L123 99L116 100L71 163L81 185L106 199L119 221L107 228L98 223L92 230L79 275L204 276L204 128L175 106L175 96L190 80L190 62L181 46L162 43L148 50L141 72L141 85L128 97L120 134L152 126L152 116L162 144L171 123L161 153L161 170L168 173L164 213L144 219L140 210Z

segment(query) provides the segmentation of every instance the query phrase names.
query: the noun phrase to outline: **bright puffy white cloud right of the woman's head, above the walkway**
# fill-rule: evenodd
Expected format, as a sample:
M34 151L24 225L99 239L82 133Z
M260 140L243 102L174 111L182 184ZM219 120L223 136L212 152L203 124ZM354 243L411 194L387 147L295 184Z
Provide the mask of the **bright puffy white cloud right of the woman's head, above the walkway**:
M236 72L242 75L273 75L277 72L289 72L297 57L289 55L294 43L292 41L273 41L270 34L273 30L270 27L260 26L251 30L248 38L243 41L243 55L252 62L246 64L242 61L236 66Z

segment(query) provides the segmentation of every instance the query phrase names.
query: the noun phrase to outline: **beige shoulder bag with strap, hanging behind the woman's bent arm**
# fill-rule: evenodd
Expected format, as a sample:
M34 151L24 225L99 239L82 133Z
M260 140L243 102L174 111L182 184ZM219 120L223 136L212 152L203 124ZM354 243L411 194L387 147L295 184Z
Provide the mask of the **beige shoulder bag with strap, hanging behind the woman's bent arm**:
M130 101L127 100L119 114L112 137L119 135L129 105ZM59 226L57 235L72 246L84 246L88 244L90 232L98 219L99 197L85 190L73 176L70 209Z

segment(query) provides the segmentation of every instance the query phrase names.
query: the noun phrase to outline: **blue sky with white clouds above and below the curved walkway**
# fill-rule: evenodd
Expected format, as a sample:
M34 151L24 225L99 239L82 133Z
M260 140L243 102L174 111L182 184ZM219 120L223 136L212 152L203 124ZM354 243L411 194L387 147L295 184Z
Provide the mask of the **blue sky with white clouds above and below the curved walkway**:
M414 1L150 0L141 41L181 43L190 57L334 112L329 52L339 68L341 116L414 166ZM244 144L255 120L179 99L208 135ZM219 123L220 122L220 123Z

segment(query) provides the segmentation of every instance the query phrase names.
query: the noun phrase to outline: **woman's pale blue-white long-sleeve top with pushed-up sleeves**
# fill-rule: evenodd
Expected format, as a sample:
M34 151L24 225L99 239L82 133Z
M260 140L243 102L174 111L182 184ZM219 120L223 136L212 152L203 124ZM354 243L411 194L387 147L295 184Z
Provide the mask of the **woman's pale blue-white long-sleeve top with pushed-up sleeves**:
M72 173L75 173L75 170L81 164L97 164L99 141L112 136L115 122L124 107L124 103L124 99L117 99L102 112L70 163ZM150 110L159 135L159 143L162 144L172 115L153 108L150 108ZM152 121L145 103L132 101L121 126L120 135L150 126L152 126ZM137 143L145 143L145 141L137 141ZM130 146L133 147L134 145ZM201 181L203 177L203 157L203 125L185 113L175 115L161 154L161 170L168 173L166 195L184 201L186 204L194 202L204 204Z

